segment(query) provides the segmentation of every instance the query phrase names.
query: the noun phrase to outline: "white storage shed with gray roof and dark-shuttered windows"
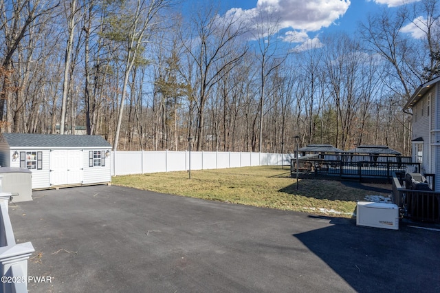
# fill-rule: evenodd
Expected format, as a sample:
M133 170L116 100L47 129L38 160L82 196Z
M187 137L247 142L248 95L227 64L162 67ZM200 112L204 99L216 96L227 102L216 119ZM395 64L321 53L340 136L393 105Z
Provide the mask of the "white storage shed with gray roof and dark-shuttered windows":
M32 171L32 190L109 184L110 153L100 135L0 134L0 165Z

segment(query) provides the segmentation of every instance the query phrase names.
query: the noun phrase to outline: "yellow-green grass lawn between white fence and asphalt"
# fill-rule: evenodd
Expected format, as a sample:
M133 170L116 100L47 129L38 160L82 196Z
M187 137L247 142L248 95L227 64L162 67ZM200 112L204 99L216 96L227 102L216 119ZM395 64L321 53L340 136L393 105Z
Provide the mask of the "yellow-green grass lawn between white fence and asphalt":
M351 217L356 202L365 195L391 194L384 184L347 184L333 180L296 180L290 177L287 166L256 166L188 172L149 173L116 176L112 184L133 188L246 204L280 210ZM354 186L354 187L353 187ZM390 189L378 193L371 188ZM370 190L369 190L370 189Z

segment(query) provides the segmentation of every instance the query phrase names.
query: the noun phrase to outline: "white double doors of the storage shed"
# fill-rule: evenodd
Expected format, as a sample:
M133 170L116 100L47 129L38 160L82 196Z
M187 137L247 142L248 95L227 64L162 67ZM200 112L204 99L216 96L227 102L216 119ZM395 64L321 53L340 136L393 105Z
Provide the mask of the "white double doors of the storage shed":
M50 152L50 185L83 183L83 151L53 150Z

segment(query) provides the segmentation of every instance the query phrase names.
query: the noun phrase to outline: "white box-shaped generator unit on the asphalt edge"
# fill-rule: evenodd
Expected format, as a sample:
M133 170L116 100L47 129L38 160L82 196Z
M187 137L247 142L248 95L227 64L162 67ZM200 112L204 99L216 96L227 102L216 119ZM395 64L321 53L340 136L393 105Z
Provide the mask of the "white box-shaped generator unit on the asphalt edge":
M382 202L358 202L356 225L399 230L399 207Z

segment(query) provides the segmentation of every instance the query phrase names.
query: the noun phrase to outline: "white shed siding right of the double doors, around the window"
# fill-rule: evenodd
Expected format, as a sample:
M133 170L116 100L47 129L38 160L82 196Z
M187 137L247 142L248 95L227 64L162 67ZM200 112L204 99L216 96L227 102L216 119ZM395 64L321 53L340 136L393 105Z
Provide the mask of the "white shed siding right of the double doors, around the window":
M105 166L89 167L89 151L107 151L104 149L84 149L83 151L83 166L84 166L84 181L83 184L94 184L111 182L111 155L105 158Z

